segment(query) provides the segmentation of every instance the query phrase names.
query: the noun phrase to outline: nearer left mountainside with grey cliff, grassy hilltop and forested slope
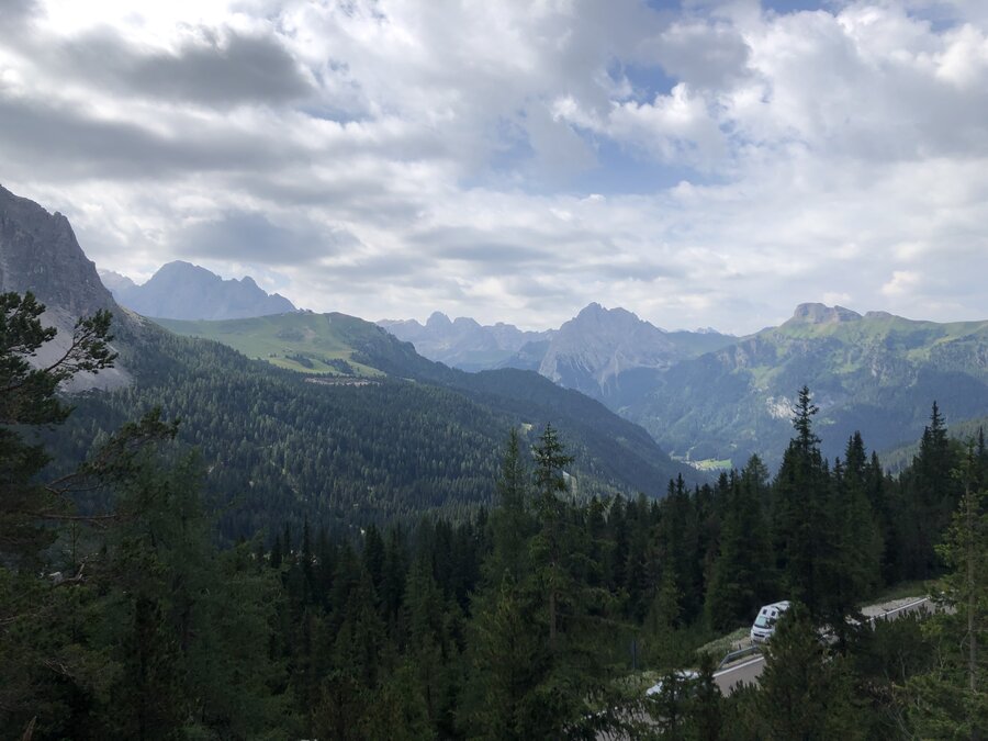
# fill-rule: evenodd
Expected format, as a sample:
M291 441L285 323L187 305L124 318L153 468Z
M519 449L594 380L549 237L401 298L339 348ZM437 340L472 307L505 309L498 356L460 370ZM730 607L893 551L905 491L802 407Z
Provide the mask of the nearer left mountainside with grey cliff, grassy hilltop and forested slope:
M76 411L52 440L55 464L79 460L94 436L160 406L182 420L180 440L197 446L212 472L210 496L228 538L305 520L348 529L416 512L462 516L492 499L512 427L529 446L551 423L575 457L568 472L581 494L661 496L670 478L700 480L596 401L534 372L449 369L357 317L161 319L192 335L179 336L115 302L64 216L5 191L0 266L3 290L35 291L46 317L74 322L109 308L116 319L121 382L72 400ZM242 349L261 361L227 347L233 337L260 344ZM272 362L285 353L305 372ZM306 367L314 357L321 368Z

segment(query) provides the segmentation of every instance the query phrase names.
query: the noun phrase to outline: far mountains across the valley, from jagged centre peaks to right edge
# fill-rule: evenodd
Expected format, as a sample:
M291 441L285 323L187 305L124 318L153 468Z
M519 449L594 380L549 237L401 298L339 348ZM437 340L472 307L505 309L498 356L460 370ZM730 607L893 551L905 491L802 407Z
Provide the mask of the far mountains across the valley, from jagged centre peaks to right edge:
M478 367L482 343L494 341L493 327L467 318L382 325L424 355L467 368ZM986 322L938 324L806 303L783 325L739 338L665 332L624 308L591 304L520 347L513 336L513 346L489 358L492 366L537 370L597 398L703 469L741 465L753 453L777 463L804 384L820 407L831 458L856 430L878 450L914 440L934 401L953 422L988 414Z

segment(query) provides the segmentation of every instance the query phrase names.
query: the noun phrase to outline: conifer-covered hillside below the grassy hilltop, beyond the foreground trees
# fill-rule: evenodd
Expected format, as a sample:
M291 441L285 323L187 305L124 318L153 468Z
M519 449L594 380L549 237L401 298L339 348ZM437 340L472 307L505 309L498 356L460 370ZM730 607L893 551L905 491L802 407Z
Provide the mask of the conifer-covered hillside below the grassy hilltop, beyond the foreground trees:
M180 439L201 449L228 538L306 517L332 530L431 509L462 517L491 501L497 448L512 426L559 425L584 496L661 495L677 471L643 430L596 402L534 373L498 382L453 372L368 326L388 352L370 338L358 357L395 377L325 385L146 325L119 343L136 382L79 397L57 458L78 460L124 420L160 406L182 420Z

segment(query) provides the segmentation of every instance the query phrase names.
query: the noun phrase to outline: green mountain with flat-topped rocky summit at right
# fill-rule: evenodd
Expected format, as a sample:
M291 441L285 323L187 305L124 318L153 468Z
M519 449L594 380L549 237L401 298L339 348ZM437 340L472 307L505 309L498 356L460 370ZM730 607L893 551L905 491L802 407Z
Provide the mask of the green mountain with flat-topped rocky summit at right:
M824 307L826 308L826 307ZM622 413L673 454L777 458L791 400L809 385L828 456L861 430L877 449L916 439L936 401L951 419L988 413L988 322L936 324L885 313L797 316L639 379Z

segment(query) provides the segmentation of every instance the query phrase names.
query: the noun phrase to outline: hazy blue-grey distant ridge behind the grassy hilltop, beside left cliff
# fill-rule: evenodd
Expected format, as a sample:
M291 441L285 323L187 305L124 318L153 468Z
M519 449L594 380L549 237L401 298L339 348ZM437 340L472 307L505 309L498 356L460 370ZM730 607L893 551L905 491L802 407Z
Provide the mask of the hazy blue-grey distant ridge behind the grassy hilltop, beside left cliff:
M156 318L242 319L295 311L291 301L267 293L249 276L224 280L182 260L161 266L141 285L112 271L102 278L121 304Z

